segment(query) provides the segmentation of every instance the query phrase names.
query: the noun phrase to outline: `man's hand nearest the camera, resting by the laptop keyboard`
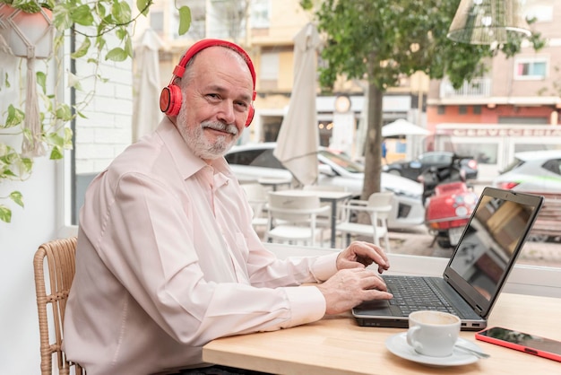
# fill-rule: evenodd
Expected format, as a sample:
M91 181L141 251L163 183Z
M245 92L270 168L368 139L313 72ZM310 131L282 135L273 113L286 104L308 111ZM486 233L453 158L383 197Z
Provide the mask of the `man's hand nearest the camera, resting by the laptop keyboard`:
M393 298L382 277L364 266L342 269L318 284L317 289L324 294L326 314L340 314L363 301Z

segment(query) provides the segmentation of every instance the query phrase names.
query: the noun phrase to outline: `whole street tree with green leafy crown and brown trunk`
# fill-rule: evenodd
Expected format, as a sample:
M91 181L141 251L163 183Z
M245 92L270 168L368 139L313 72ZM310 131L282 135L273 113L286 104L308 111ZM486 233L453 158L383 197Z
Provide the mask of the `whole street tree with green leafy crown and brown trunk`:
M460 0L303 0L300 4L314 11L318 30L324 34L322 58L327 64L320 69L322 87L332 88L339 76L368 83L363 198L380 190L382 97L387 89L418 71L434 79L446 76L459 88L484 74L487 58L501 51L512 57L522 45L517 38L497 48L446 38ZM539 34L532 35L531 42L536 49L544 45Z

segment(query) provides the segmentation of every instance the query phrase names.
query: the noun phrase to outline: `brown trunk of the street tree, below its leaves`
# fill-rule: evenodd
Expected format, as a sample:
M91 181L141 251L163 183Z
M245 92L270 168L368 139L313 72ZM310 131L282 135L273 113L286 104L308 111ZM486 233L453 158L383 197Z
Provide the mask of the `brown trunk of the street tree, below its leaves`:
M362 199L380 191L382 174L382 98L384 92L368 83L368 126L365 140L365 176Z

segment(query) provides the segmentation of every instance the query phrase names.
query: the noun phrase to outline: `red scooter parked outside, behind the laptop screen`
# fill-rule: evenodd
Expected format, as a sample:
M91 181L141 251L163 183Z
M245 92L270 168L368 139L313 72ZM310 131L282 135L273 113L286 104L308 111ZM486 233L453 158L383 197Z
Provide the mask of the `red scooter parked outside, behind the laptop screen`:
M434 235L431 246L438 243L443 249L455 248L478 202L460 167L462 159L465 157L454 154L450 165L428 168L419 176L423 185L425 225Z

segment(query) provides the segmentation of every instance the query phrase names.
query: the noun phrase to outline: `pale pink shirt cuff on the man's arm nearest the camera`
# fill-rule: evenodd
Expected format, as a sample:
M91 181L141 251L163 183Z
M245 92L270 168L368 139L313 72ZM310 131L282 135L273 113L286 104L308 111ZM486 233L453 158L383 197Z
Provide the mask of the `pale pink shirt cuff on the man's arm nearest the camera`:
M325 315L324 294L315 286L285 288L290 303L290 327L315 322Z

